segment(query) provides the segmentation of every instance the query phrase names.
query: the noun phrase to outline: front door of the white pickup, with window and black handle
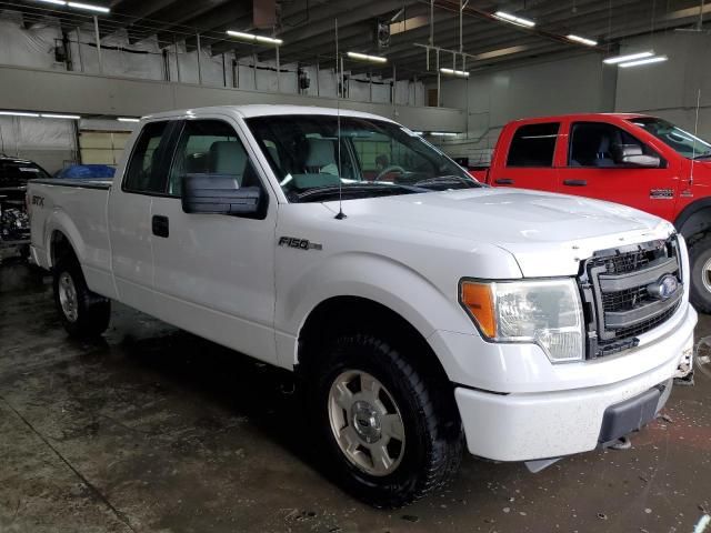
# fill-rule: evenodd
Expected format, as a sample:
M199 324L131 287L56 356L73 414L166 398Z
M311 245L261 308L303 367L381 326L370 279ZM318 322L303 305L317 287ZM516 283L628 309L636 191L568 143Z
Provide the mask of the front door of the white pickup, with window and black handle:
M276 363L274 231L277 203L232 119L190 119L174 151L166 194L154 198L153 268L158 315L182 329ZM184 213L186 174L229 174L262 188L260 218Z

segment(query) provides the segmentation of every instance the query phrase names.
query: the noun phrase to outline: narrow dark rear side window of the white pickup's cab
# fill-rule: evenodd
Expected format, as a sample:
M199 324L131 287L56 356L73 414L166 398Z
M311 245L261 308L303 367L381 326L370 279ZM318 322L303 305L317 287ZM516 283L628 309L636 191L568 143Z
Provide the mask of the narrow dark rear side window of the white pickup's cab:
M123 189L129 192L163 192L166 181L162 172L161 141L164 139L168 121L150 122L143 127L131 154Z

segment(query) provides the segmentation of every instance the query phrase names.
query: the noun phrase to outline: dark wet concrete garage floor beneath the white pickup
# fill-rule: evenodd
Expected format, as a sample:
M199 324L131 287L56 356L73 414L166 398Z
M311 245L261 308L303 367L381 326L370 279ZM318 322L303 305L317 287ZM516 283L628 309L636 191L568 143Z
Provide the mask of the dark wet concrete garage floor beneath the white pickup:
M711 510L699 372L629 451L535 475L467 456L445 492L397 512L324 480L289 390L280 371L118 305L104 341L71 341L49 278L6 263L0 532L690 532Z

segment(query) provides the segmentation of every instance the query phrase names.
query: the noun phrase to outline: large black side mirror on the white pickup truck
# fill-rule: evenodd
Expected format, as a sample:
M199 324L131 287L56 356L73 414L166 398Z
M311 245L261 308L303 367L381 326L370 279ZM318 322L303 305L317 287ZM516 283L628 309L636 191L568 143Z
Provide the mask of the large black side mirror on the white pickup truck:
M259 187L240 188L230 174L187 174L182 181L186 213L257 215L262 204Z

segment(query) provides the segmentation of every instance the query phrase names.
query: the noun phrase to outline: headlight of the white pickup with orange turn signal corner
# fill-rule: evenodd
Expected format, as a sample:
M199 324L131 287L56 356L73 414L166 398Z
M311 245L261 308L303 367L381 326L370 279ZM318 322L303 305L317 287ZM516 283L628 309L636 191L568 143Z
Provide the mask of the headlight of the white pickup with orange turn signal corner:
M584 358L582 305L572 279L463 280L460 302L491 341L533 342L552 362Z

